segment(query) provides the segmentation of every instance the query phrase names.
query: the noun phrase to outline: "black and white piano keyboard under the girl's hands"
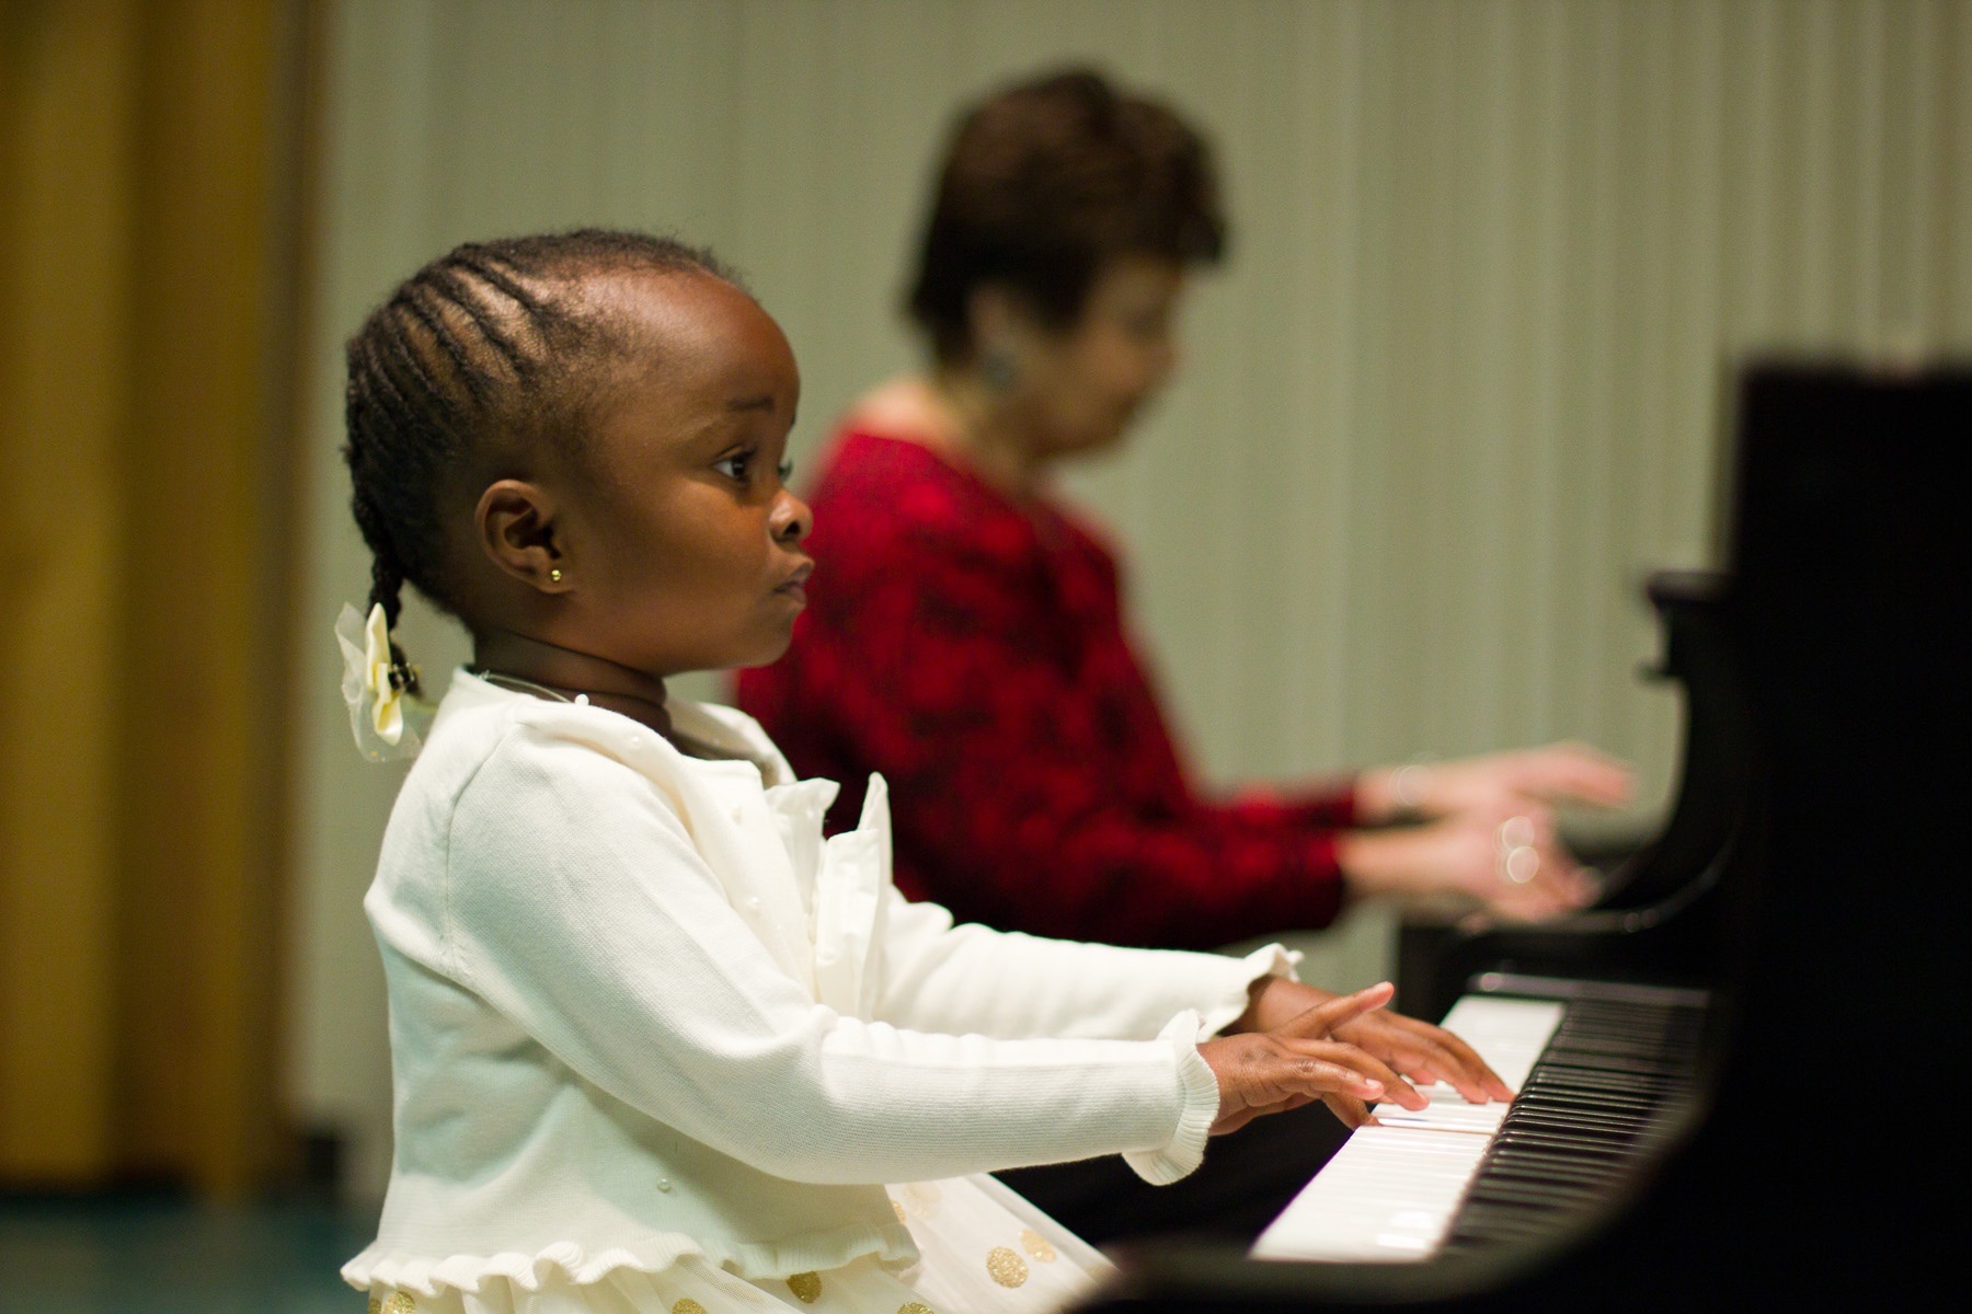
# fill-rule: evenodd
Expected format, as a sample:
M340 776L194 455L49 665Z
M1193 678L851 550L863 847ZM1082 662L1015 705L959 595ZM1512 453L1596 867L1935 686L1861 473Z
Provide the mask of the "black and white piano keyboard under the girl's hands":
M1513 1103L1471 1105L1438 1084L1416 1113L1380 1105L1252 1257L1416 1263L1540 1235L1609 1198L1690 1091L1704 997L1552 985L1574 997L1467 995L1445 1015Z

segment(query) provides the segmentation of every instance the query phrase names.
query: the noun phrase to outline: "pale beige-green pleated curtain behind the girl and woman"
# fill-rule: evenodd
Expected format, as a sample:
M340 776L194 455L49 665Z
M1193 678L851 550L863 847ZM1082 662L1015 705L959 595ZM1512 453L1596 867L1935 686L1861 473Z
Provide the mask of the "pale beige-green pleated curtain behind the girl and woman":
M1960 0L343 0L290 1082L367 1184L388 1076L357 902L394 776L333 701L367 577L333 345L465 236L678 230L787 327L809 461L915 361L893 307L951 114L1077 59L1179 104L1229 185L1177 386L1069 481L1215 780L1576 735L1641 764L1647 818L1678 727L1635 674L1639 583L1714 561L1731 364L1972 349ZM422 617L410 642L459 656ZM1339 969L1384 967L1384 930Z

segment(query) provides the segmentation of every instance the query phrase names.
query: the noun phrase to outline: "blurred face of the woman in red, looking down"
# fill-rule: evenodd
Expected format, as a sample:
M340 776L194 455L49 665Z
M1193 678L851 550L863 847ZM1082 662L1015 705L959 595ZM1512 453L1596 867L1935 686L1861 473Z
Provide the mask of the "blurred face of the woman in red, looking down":
M1073 325L1020 333L1016 402L1043 445L1039 455L1100 451L1124 435L1177 366L1183 282L1171 260L1120 256L1096 274Z

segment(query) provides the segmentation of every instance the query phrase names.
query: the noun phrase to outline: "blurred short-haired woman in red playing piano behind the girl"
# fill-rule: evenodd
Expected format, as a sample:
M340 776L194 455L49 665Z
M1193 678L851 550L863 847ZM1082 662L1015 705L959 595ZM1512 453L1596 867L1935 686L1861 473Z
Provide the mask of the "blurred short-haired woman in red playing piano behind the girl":
M740 705L801 774L842 782L838 820L881 772L897 885L962 920L1209 948L1325 926L1345 896L1449 890L1514 918L1582 906L1589 881L1548 808L1621 802L1631 778L1580 745L1302 796L1205 798L1183 768L1116 561L1049 473L1122 441L1171 372L1187 270L1223 242L1207 148L1162 104L1087 71L978 104L909 299L931 364L842 420L809 496L807 615L781 662L741 674ZM1305 1117L1272 1123L1307 1135ZM1266 1158L1258 1141L1236 1149ZM1284 1190L1309 1154L1274 1156ZM1020 1188L1096 1241L1205 1217L1250 1233L1284 1204L1250 1174L1211 1196L1211 1166L1191 1200L1148 1206L1114 1178L1051 1192L1029 1174L1053 1170L1025 1170Z

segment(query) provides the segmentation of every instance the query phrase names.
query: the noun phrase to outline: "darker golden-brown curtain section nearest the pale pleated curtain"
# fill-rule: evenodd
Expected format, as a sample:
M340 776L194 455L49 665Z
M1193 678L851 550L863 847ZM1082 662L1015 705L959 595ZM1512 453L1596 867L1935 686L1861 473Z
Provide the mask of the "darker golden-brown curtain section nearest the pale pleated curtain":
M264 1178L274 1082L276 821L290 294L292 10L146 12L122 654L124 1156L213 1194Z

